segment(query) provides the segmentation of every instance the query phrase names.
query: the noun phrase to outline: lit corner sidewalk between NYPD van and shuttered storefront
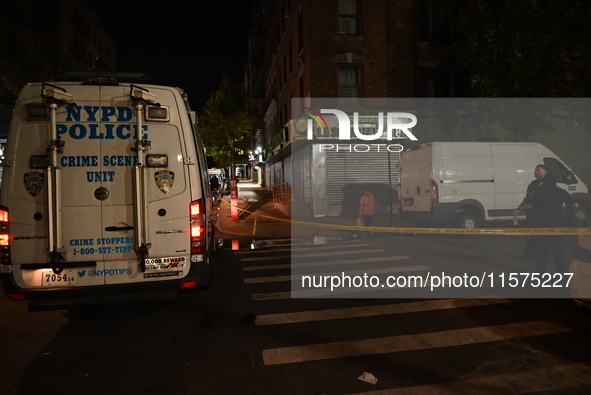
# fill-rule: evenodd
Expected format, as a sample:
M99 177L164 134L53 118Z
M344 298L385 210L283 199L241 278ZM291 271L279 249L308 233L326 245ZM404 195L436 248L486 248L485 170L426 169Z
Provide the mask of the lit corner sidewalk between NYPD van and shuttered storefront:
M273 202L269 189L261 188L256 183L238 183L238 221L232 221L230 197L224 196L216 204L216 237L232 239L288 239L291 237L353 237L359 231L350 229L332 229L314 224L356 226L357 216L313 217L307 215L304 207L298 207L297 221L291 223L289 206ZM305 222L307 224L302 224ZM375 227L412 227L412 224L400 220L397 214L376 215L372 226Z

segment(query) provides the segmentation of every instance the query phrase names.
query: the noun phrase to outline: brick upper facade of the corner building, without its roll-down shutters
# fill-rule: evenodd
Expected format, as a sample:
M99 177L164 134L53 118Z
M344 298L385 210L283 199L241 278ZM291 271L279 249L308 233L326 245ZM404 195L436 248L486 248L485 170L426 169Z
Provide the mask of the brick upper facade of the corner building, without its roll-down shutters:
M467 72L454 64L453 56L458 39L453 18L463 4L255 0L246 86L265 111L255 136L265 182L298 182L293 174L300 173L289 163L290 120L301 116L292 113L293 98L355 104L360 98L466 95Z

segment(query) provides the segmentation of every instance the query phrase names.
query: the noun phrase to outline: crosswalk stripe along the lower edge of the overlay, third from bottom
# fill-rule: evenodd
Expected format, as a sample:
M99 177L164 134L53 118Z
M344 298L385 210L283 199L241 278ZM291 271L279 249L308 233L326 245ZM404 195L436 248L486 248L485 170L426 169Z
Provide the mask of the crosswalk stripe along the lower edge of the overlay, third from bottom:
M494 298L494 299L493 299ZM482 299L442 299L388 305L351 307L344 309L299 311L293 313L259 315L257 325L293 324L297 322L325 321L343 318L371 317L388 314L416 313L422 311L456 309L462 307L488 306L511 303L495 297Z

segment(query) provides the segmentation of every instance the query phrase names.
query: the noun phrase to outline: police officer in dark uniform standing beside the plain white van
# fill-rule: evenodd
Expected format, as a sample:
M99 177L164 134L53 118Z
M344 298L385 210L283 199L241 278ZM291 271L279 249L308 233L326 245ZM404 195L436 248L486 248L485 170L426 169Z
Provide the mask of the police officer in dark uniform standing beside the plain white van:
M561 227L564 224L563 206L578 210L579 205L564 189L556 186L558 177L548 173L544 176L544 182L536 188L534 193L527 198L523 205L525 210L533 210L533 226L540 228ZM536 271L546 271L546 261L552 253L557 273L566 272L566 263L562 251L562 236L534 236L534 263Z

